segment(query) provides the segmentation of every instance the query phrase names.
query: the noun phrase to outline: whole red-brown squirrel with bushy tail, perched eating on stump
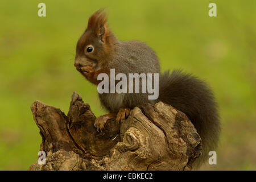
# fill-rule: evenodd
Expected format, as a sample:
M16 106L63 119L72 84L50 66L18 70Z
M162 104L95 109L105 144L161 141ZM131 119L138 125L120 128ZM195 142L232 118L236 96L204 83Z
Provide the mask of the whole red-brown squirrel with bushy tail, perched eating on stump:
M88 81L97 85L100 73L159 73L159 97L148 100L147 94L102 93L98 94L101 105L110 113L96 118L97 130L104 129L108 119L117 122L126 119L135 106L159 101L182 111L195 126L200 135L203 154L196 159L193 168L198 168L208 158L208 152L215 150L220 134L218 106L208 85L199 78L175 70L160 73L158 56L145 43L139 41L121 42L107 25L106 13L100 9L93 13L85 32L76 46L75 67Z

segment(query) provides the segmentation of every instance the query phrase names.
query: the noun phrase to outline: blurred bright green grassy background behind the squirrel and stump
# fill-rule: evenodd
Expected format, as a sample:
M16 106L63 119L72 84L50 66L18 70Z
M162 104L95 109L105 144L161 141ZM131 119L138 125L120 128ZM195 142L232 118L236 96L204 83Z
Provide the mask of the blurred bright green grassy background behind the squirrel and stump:
M95 86L73 67L76 42L101 7L120 40L141 40L162 71L182 68L203 78L220 105L217 165L256 169L256 1L6 1L0 5L0 169L26 170L41 138L30 105L40 100L66 114L74 90L104 114ZM217 17L208 16L210 2Z

